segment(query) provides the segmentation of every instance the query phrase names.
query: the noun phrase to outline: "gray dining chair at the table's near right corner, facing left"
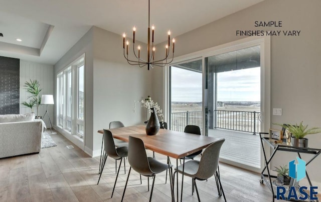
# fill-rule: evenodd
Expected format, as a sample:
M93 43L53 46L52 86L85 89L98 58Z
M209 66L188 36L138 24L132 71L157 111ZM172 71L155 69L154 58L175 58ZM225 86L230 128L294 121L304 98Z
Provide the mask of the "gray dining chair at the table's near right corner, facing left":
M220 150L224 141L225 139L223 138L211 143L204 150L201 156L201 160L190 160L178 166L178 168L175 168L173 181L175 181L175 173L177 171L180 173L183 173L183 169L184 169L184 175L192 177L192 195L194 193L194 187L195 187L197 198L199 201L201 200L200 200L200 195L196 185L196 179L206 180L213 175L215 175L219 196L222 196L223 194L224 200L226 201L224 190L221 183L220 171L219 171Z

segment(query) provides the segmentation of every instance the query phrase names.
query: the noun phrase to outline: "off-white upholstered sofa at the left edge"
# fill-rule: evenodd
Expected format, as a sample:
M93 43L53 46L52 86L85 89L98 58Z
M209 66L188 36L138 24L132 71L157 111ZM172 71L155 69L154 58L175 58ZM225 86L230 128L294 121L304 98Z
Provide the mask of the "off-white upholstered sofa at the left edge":
M34 113L0 115L0 158L39 153L43 128Z

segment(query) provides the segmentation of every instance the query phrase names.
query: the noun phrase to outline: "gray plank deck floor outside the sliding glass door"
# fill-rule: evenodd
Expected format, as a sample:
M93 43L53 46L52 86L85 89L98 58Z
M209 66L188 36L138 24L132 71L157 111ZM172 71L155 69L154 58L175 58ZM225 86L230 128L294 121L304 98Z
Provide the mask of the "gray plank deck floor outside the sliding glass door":
M259 135L225 129L209 129L209 136L225 138L220 152L221 158L260 168Z

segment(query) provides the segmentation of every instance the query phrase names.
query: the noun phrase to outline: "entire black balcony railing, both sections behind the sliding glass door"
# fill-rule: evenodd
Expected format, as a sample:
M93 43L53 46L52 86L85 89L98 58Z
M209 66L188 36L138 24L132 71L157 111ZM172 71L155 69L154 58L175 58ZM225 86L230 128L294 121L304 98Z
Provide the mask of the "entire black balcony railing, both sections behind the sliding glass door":
M216 121L215 128L251 132L256 134L260 132L261 122L259 111L231 111L231 110L214 110ZM198 125L201 129L202 111L184 111L174 112L171 114L171 129L184 131L186 125Z

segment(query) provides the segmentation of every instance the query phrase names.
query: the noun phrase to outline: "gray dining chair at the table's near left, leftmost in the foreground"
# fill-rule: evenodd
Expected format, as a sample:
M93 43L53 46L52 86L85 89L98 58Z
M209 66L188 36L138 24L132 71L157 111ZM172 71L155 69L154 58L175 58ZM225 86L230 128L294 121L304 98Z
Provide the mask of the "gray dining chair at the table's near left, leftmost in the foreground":
M126 157L128 155L128 147L123 146L123 147L115 147L115 143L114 143L114 139L112 137L112 133L109 130L104 129L104 150L106 155L103 158L103 165L102 165L102 170L100 172L99 175L99 179L97 184L99 183L101 174L103 172L106 160L107 160L107 156L110 156L112 158L114 158L116 161L120 159L120 163L119 163L119 167L118 167L118 171L117 171L117 175L116 175L116 179L115 179L115 183L114 183L114 187L112 189L112 193L111 193L111 198L112 195L114 194L114 190L115 190L115 186L116 186L116 182L117 182L117 178L118 178L118 174L119 174L119 170L120 170L120 165L121 165L121 161L124 157ZM124 166L125 166L125 160L124 160Z

